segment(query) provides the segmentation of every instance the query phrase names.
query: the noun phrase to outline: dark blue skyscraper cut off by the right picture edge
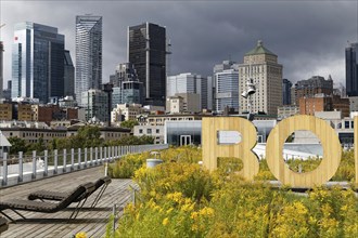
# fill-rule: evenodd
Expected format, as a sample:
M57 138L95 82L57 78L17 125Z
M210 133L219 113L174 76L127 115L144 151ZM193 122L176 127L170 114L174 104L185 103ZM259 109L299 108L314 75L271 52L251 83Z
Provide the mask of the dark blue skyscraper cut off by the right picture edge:
M358 42L346 48L347 96L358 96Z

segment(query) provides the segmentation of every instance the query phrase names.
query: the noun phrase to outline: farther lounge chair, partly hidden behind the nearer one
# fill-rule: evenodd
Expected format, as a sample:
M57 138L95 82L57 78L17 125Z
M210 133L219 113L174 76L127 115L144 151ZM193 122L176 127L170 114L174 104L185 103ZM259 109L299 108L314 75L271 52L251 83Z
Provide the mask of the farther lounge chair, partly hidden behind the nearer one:
M100 191L97 195L97 197L94 198L94 201L91 204L91 208L94 208L97 206L97 203L99 202L100 198L102 197L105 188L108 186L108 184L111 183L111 177L108 176L104 176L99 178L98 181L94 182L94 189L88 194L86 196L86 198L88 196L90 196L91 194L93 194L95 190L98 190L100 187ZM38 190L38 191L34 191L31 194L28 195L28 200L36 200L36 199L40 199L41 201L43 200L55 200L55 201L61 201L63 200L65 197L68 196L68 193L66 191L53 191L53 190ZM75 202L78 202L80 200L82 200L85 197L79 197Z

